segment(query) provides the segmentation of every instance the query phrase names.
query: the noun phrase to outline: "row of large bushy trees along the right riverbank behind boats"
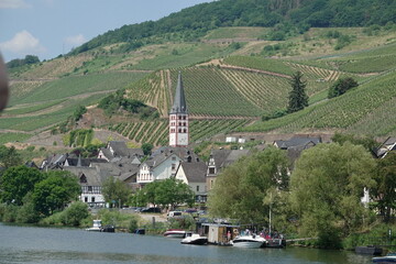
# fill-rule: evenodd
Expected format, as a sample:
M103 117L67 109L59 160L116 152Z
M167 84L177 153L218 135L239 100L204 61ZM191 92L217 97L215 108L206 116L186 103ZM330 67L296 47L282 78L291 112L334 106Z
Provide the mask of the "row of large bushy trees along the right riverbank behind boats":
M273 230L317 238L321 248L343 248L345 238L394 220L396 153L374 160L373 142L336 134L333 143L304 151L295 164L275 147L246 156L218 177L210 211L268 227L271 210ZM369 205L361 202L364 190Z

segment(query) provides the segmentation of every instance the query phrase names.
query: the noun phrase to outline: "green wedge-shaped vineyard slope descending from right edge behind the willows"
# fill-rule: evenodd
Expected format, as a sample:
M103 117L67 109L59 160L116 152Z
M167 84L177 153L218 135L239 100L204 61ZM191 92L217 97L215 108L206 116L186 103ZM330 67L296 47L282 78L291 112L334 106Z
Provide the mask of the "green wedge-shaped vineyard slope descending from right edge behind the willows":
M375 111L386 111L381 109L384 106L392 105L389 100L396 97L395 87L396 73L388 74L382 79L375 79L362 85L359 89L352 90L342 97L333 98L327 103L307 108L285 118L254 124L246 128L245 131L268 131L274 129L287 133L306 129L351 129L356 131L356 128L362 125L361 120L370 120ZM387 123L387 125L383 125L387 129L382 129L386 133L394 130L392 120L382 120ZM376 129L372 128L371 130Z

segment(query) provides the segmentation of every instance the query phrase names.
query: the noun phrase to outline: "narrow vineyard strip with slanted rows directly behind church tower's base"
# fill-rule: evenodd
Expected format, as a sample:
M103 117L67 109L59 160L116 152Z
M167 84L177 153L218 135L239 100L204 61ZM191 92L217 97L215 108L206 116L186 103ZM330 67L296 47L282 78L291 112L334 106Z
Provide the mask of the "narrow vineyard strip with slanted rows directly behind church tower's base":
M210 140L211 136L241 129L250 120L243 119L213 119L213 120L190 120L190 143ZM151 143L153 145L168 144L168 120L156 120L151 122L118 123L109 130L118 132L136 143Z

